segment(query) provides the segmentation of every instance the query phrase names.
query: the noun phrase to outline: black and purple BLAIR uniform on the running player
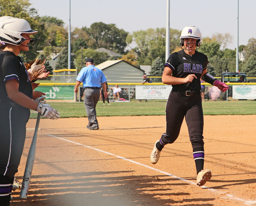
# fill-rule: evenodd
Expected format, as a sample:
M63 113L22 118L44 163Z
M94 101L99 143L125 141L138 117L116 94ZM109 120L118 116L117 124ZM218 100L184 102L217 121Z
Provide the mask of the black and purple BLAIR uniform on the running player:
M161 136L160 144L162 146L171 144L178 138L185 117L197 173L203 169L204 163L204 118L200 78L207 65L208 58L206 55L195 51L195 54L190 56L184 50L172 53L165 63L165 67L172 70L174 77L185 78L189 74L195 74L197 79L194 78L192 82L186 84L172 85L173 89L170 92L165 110L166 133Z

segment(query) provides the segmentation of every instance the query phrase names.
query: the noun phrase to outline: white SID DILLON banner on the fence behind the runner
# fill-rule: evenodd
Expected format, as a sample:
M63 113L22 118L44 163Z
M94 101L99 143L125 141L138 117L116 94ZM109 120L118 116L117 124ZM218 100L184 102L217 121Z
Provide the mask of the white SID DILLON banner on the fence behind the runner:
M137 100L168 99L172 90L171 85L136 85L135 97Z

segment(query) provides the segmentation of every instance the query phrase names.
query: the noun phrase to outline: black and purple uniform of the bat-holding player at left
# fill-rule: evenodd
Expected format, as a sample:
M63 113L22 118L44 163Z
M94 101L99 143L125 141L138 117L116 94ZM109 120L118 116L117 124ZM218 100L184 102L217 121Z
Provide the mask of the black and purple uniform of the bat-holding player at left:
M11 194L30 116L30 109L18 105L8 97L5 82L10 79L17 79L19 91L33 98L29 73L20 57L11 51L0 51L0 197Z

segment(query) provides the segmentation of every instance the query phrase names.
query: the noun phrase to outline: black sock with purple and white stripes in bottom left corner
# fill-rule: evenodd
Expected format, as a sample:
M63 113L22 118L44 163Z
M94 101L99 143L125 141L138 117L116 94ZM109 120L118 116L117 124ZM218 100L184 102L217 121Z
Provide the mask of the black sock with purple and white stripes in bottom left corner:
M0 205L1 206L9 206L10 205L10 197L11 190L13 185L13 179L4 175L0 175Z

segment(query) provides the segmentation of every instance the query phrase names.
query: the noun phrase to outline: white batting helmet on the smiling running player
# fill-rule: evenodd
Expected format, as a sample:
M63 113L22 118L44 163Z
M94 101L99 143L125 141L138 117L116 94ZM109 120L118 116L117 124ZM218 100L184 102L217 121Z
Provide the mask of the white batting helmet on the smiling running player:
M200 48L202 35L201 35L199 28L197 28L195 26L186 26L185 28L183 28L183 30L181 31L181 35L180 35L180 48L181 49L184 49L184 48L182 48L184 46L184 40L183 40L184 38L196 39L197 40L196 41L196 49Z

